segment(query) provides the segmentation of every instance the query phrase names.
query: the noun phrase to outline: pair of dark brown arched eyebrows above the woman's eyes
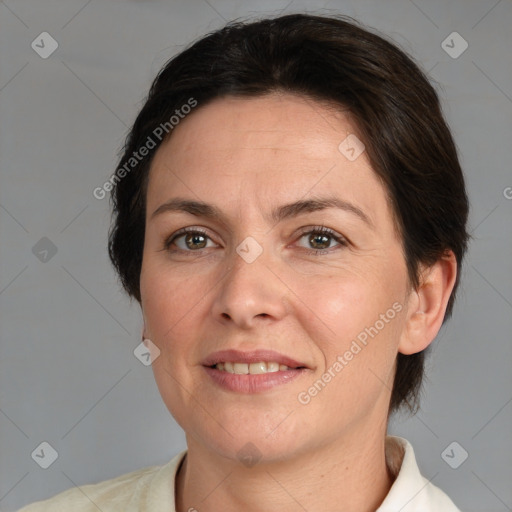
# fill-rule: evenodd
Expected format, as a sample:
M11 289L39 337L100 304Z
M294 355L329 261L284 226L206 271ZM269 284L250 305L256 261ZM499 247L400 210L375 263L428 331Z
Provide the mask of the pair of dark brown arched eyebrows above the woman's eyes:
M363 212L363 210L353 205L352 203L337 197L317 197L279 206L272 211L270 220L278 223L285 219L297 217L304 213L326 210L328 208L337 208L339 210L351 213L359 217L359 219L365 222L372 229L374 228L370 218L368 215L366 215L366 213ZM166 212L184 212L195 215L196 217L224 219L223 213L215 205L204 203L202 201L183 199L180 197L171 199L160 205L151 214L151 219Z

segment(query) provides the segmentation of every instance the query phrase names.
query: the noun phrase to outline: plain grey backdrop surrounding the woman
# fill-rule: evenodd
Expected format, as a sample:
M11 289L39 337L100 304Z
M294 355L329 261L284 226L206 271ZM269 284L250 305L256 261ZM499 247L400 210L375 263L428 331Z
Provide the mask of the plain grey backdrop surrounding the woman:
M92 191L114 171L168 58L226 20L281 11L344 13L375 27L430 72L442 97L474 240L454 318L429 359L422 411L395 418L390 432L412 442L423 474L463 510L512 508L510 0L3 0L2 511L163 464L185 447L151 367L133 354L139 308L109 266L109 204ZM59 45L46 59L31 48L44 31ZM441 46L453 31L469 44L458 58ZM43 237L55 254L48 241L34 254ZM43 441L58 452L48 469L31 457ZM453 441L462 448L452 461L469 454L458 469L441 457Z

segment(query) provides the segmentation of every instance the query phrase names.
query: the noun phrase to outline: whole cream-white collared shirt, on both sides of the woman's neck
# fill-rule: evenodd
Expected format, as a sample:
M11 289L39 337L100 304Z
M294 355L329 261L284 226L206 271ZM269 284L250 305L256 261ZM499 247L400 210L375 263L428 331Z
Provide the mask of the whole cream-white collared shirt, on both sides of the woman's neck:
M175 477L187 451L163 466L152 466L97 484L74 487L18 512L176 512ZM419 471L411 444L386 437L386 460L396 474L376 512L460 512L452 500Z

